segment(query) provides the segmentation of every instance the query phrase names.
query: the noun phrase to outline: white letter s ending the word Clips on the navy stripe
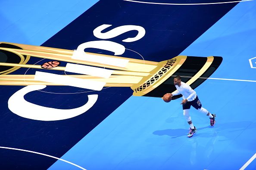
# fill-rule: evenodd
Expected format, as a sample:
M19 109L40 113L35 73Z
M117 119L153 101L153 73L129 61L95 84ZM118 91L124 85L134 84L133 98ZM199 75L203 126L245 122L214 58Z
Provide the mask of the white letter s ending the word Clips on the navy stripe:
M103 24L103 25L100 25L99 27L95 28L94 36L96 36L97 38L100 38L100 39L109 39L109 38L119 36L122 33L131 31L131 30L137 30L138 31L137 36L135 36L133 38L127 38L127 39L122 40L123 42L129 43L129 42L134 42L134 41L137 41L138 39L141 39L146 33L144 27L141 27L138 25L123 25L120 27L116 27L112 30L109 30L106 33L101 33L102 30L104 30L110 26L112 26L112 25Z

